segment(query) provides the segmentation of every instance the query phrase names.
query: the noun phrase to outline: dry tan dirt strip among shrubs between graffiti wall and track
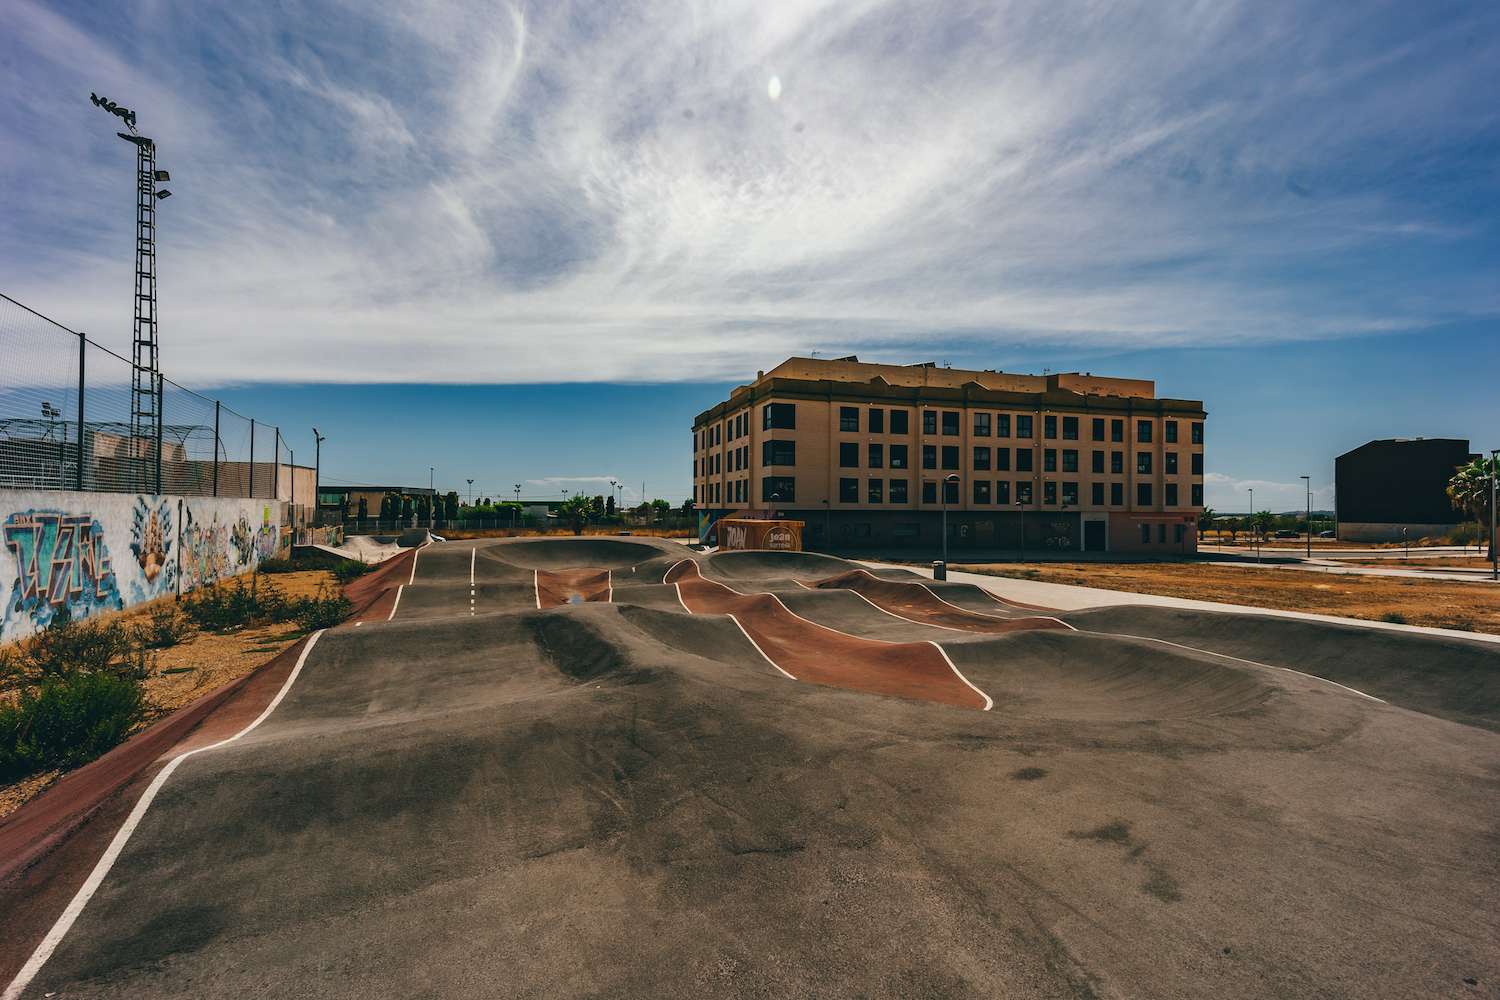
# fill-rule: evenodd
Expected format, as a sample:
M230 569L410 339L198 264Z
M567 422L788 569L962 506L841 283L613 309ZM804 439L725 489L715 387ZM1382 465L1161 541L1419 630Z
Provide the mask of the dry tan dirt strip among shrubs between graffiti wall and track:
M249 586L250 576L246 573L238 579ZM264 585L266 580L274 580L276 586L292 598L312 597L320 588L326 592L338 592L339 589L333 574L327 570L262 574L258 585ZM232 580L225 580L225 585L232 586ZM132 609L132 612L122 615L120 621L126 624L146 621L159 607L162 604L140 612ZM186 619L180 618L180 621ZM297 631L296 624L280 622L237 628L230 633L194 630L183 636L176 646L156 649L156 669L146 679L144 687L146 696L158 711L147 720L146 726L213 691L220 684L228 684L249 673L298 639L302 639L302 633ZM62 775L62 771L48 771L0 786L0 817L15 813Z

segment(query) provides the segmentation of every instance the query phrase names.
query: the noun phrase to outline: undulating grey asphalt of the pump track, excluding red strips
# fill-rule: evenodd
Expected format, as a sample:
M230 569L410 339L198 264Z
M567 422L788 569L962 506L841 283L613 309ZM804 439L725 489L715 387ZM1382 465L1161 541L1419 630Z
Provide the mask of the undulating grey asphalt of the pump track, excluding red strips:
M688 556L939 642L996 708L788 681L672 606ZM536 567L616 603L536 610ZM795 585L849 568L424 549L393 621L178 768L26 996L1500 993L1492 652L1134 607L957 634Z

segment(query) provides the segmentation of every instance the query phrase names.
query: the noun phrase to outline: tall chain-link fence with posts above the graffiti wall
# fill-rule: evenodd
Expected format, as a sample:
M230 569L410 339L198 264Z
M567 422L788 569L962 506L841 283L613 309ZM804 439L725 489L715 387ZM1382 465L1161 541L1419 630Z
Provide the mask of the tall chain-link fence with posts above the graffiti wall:
M273 424L162 378L160 420L130 427L135 366L0 294L0 489L285 495Z

